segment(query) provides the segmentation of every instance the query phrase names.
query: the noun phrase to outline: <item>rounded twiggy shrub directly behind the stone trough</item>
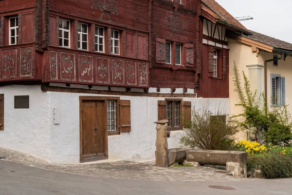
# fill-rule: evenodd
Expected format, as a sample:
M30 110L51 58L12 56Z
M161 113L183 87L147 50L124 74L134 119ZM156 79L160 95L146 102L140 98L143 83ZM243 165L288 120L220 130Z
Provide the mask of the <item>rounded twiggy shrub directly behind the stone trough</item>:
M183 147L198 147L202 150L230 150L239 129L226 120L220 109L214 115L208 107L206 103L201 109L193 109L192 119L184 121L189 128L185 129L181 144Z

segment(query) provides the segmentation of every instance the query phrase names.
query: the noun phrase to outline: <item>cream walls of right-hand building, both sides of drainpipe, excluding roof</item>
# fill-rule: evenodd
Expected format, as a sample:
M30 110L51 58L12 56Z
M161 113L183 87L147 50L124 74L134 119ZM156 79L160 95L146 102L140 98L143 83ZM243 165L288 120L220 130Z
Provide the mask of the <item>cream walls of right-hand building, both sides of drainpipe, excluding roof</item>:
M240 76L242 78L241 85L243 86L243 76L242 71L244 71L247 78L249 78L251 84L251 90L257 90L258 93L264 92L264 60L273 59L273 54L259 52L258 57L256 57L256 52L252 52L252 47L243 43L240 43L233 39L228 39L228 48L229 51L229 97L231 99L231 114L238 115L242 113L242 108L239 106L235 106L235 104L239 103L238 95L234 92L234 61L238 67ZM254 66L253 66L254 65ZM251 67L262 67L262 69L254 68L252 70ZM271 90L270 90L270 75L276 74L281 77L285 77L286 79L286 104L290 104L288 106L288 111L292 114L292 58L287 57L284 61L279 60L278 66L273 66L273 62L268 62L267 64L267 98L271 99ZM261 90L258 90L261 89ZM237 135L238 139L245 139L246 132L241 132Z

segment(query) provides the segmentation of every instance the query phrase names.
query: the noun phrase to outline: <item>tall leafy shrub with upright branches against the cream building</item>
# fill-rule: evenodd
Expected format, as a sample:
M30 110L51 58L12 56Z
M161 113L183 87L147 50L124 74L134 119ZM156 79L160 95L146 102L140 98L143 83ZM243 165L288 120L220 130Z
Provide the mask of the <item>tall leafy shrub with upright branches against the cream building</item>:
M260 98L256 98L256 92L251 91L249 80L244 72L242 72L244 87L241 86L241 78L235 63L233 70L235 92L239 98L239 103L236 105L243 108L243 113L233 117L234 121L245 130L253 129L251 133L256 135L256 141L264 139L265 142L274 145L288 144L292 140L292 122L287 106L269 109L266 97L261 94ZM260 137L261 134L263 137Z

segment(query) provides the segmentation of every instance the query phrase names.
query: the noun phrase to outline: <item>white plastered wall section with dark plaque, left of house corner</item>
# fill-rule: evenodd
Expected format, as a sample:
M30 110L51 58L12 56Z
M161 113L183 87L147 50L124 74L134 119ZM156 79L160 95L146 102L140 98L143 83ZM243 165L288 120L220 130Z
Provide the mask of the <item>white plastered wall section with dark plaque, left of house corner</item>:
M40 86L2 86L4 130L0 147L50 160L50 94ZM29 109L14 109L14 96L29 95Z

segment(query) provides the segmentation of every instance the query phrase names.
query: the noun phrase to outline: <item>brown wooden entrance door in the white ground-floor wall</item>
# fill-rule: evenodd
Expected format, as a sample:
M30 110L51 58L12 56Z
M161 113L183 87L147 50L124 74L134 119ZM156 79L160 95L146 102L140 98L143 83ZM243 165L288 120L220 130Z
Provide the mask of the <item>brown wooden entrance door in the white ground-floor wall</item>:
M105 101L103 100L81 101L81 161L92 161L108 158L105 109Z

